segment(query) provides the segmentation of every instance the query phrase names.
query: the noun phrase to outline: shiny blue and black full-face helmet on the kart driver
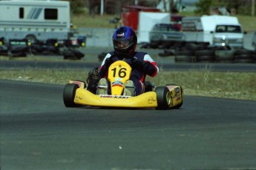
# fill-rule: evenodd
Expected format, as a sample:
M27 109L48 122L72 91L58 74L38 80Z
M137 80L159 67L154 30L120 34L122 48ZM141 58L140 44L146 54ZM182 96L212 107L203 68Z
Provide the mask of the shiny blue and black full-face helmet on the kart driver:
M137 35L131 27L119 27L112 37L115 52L133 55L137 46Z

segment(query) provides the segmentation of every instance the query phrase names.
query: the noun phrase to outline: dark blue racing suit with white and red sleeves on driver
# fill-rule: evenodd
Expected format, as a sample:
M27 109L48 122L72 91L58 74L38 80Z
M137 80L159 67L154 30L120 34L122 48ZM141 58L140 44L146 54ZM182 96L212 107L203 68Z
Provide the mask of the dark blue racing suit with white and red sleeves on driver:
M123 58L120 55L116 55L115 52L109 52L102 61L99 68L99 75L101 78L108 78L108 67L105 61L111 58L111 62L123 60L131 66L130 80L134 82L136 95L140 95L143 92L143 86L146 75L154 77L159 72L156 62L146 52L134 52L133 57ZM108 60L109 61L109 60ZM139 61L140 64L137 64ZM110 84L108 82L108 92L110 92Z

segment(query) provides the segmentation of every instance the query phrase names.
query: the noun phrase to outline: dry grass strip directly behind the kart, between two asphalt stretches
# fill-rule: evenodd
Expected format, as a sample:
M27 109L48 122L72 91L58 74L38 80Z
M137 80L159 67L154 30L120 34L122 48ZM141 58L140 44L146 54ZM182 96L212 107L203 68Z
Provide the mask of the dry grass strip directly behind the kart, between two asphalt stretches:
M0 69L0 79L63 85L70 79L85 81L87 75L87 69ZM255 72L212 72L206 68L188 72L160 72L155 78L147 77L147 81L156 86L180 84L186 95L256 101Z

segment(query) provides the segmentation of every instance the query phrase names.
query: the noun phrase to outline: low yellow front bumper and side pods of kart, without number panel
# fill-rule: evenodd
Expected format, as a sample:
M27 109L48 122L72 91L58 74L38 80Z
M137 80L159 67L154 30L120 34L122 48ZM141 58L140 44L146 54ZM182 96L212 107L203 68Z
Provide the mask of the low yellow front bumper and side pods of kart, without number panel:
M72 81L78 83L78 81ZM84 83L79 82L76 89L74 103L84 106L109 106L109 107L130 107L130 108L156 108L157 93L145 92L138 96L122 95L95 95L84 88ZM179 85L166 86L171 95L169 108L183 103L183 90Z

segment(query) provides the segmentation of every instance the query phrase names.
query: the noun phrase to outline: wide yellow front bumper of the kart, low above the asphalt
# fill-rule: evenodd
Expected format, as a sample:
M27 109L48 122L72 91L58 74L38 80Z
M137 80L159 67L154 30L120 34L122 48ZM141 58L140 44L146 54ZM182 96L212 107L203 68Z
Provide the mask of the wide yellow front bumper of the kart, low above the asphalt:
M94 95L87 89L76 89L74 103L88 106L114 106L114 107L157 107L156 92L145 92L138 96L122 95Z

